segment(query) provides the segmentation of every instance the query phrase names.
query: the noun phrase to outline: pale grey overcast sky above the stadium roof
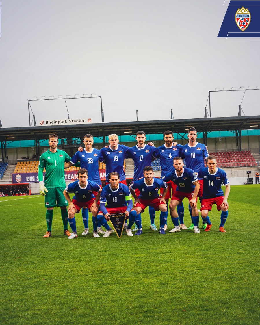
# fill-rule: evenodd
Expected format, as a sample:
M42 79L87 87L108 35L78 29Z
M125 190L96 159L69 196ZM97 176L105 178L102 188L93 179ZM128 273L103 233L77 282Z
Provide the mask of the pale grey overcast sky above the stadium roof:
M1 1L0 119L28 126L33 96L95 93L105 122L204 117L208 91L260 84L260 41L217 38L224 0ZM246 1L245 1L246 3ZM236 116L242 91L213 93L212 117ZM259 115L260 91L242 109ZM36 123L67 118L63 100L31 102ZM100 99L67 101L101 122Z

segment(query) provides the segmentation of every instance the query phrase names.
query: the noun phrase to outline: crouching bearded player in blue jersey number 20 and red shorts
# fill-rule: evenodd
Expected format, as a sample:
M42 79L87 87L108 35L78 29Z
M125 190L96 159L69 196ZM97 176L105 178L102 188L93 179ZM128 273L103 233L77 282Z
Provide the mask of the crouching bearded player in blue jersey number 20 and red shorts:
M174 171L167 173L162 177L163 180L169 182L170 180L177 185L177 188L172 196L171 203L169 205L170 214L174 228L169 232L180 231L178 214L175 210L176 206L183 201L184 198L188 198L189 205L192 209L192 218L194 221L194 232L199 233L199 212L197 209L197 195L200 189L200 183L198 176L192 169L184 168L182 158L175 157L173 159Z

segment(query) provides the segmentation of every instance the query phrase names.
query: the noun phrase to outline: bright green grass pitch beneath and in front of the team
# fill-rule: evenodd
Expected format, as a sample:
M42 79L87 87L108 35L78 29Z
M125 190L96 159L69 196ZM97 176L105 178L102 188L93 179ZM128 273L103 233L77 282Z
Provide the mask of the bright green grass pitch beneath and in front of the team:
M43 197L1 198L0 323L259 324L259 193L259 185L231 186L227 233L214 205L210 232L200 217L200 234L160 235L147 209L141 236L93 238L89 217L84 237L78 214L73 240L59 208L43 238Z

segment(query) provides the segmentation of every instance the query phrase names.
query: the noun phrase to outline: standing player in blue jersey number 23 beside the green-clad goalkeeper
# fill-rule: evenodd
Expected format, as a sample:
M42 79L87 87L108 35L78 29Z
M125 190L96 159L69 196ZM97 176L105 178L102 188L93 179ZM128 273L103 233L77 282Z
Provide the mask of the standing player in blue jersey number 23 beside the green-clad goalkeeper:
M91 134L86 134L84 136L85 148L81 148L82 151L77 151L72 157L69 166L75 165L77 162L80 162L81 168L85 168L88 171L88 179L97 183L101 187L101 180L98 172L98 162L103 162L104 158L102 153L93 148L94 139ZM94 196L97 196L97 192L93 192ZM99 204L99 202L98 202ZM82 208L82 218L84 223L84 232L82 235L88 234L88 209ZM93 230L97 231L99 234L105 234L106 232L101 228L101 225L98 224L96 217L92 218L93 221Z

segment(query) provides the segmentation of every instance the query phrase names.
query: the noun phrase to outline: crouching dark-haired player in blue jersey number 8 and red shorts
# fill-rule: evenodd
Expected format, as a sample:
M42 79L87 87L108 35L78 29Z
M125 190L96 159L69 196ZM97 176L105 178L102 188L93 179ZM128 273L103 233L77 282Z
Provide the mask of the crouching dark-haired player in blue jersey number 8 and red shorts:
M163 188L163 194L161 199L158 194L159 188ZM167 222L168 211L164 198L168 189L167 184L160 178L154 178L152 167L146 166L144 168L144 178L141 178L132 183L129 189L135 199L134 206L137 213L136 226L138 230L136 231L135 235L141 235L143 233L140 213L144 212L147 206L153 207L155 211L161 211L160 234L165 235L164 225ZM138 189L140 191L138 198L136 196L135 189Z

